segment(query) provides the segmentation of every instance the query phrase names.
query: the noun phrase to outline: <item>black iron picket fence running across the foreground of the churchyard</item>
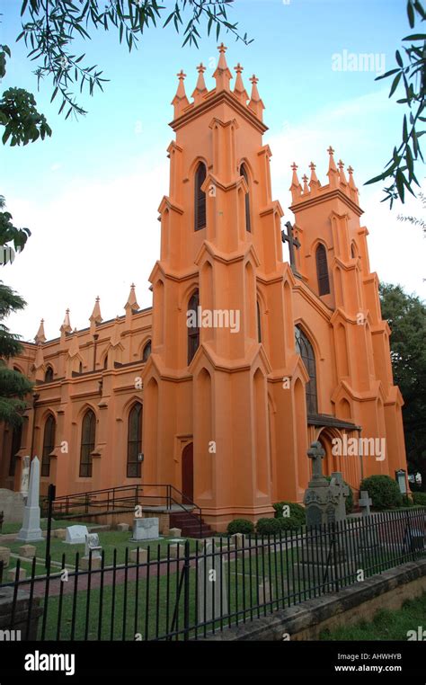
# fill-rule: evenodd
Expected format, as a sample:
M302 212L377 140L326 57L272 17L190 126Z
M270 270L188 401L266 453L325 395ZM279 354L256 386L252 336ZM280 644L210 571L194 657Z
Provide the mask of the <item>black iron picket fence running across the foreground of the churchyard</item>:
M42 575L34 558L28 577L0 586L10 599L0 628L39 640L200 639L419 559L425 539L426 508L413 508L267 538L103 549L72 565L51 556Z

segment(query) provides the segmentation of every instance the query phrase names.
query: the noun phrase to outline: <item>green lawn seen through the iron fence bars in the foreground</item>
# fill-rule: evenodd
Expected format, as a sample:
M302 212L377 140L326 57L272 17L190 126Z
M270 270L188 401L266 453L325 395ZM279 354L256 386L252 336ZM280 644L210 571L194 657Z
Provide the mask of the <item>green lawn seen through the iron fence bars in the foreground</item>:
M288 565L291 567L293 559L291 558L293 552L288 550ZM227 596L229 601L230 613L235 611L241 612L238 618L238 623L251 620L253 618L261 618L271 614L276 609L283 609L293 604L295 601L303 599L304 590L298 587L295 590L296 598L294 597L290 602L282 599L275 599L275 593L272 593L272 600L262 596L262 590L259 589L258 582L262 582L262 577L271 581L274 587L277 585L280 588L283 586L287 592L289 579L285 573L281 574L281 559L280 554L267 555L258 554L257 563L259 568L259 576L255 575L256 555L252 556L252 574L250 574L250 567L248 558L238 558L229 563L230 580L228 582L227 573L223 576L223 583L226 583ZM283 557L285 553L283 552ZM228 564L225 565L225 568ZM285 558L283 558L283 571L287 568ZM227 570L227 569L226 569ZM141 570L142 573L142 570ZM83 576L84 577L84 576ZM48 600L47 614L46 614L46 634L47 640L135 640L135 639L157 639L164 637L171 630L173 612L176 609L177 621L174 629L182 629L184 606L183 606L183 592L179 601L179 606L176 608L176 598L178 596L178 585L181 573L171 572L169 575L169 582L165 574L151 574L149 581L146 577L139 576L138 583L129 581L127 588L124 583L116 583L115 586L111 584L104 584L102 590L100 587L92 587L90 592L85 589L78 591L76 595L75 609L73 608L74 593L64 593L62 600L60 597L51 596ZM73 583L75 579L70 576L68 583ZM209 581L206 585L212 587ZM197 629L193 628L197 623L197 592L196 588L196 570L194 567L190 569L190 638L200 638L204 634L209 636L212 632L211 624L206 628L206 633L203 627ZM306 598L307 598L307 592ZM266 601L265 601L266 600ZM46 602L46 600L44 600ZM251 606L264 604L259 609L250 609ZM146 610L147 607L147 610ZM156 609L158 607L158 609ZM138 609L137 609L138 608ZM46 604L45 604L46 610ZM73 611L74 619L73 619ZM135 614L137 619L135 620ZM87 620L87 617L88 620ZM58 618L60 618L60 630L58 632ZM219 631L221 627L224 629L231 625L235 625L235 618L232 621L229 618L222 618L222 620L215 621L215 631ZM74 636L72 635L72 625L74 623ZM39 638L41 637L42 621L39 623ZM137 636L138 634L138 636ZM137 636L137 637L136 637ZM176 639L174 637L174 639ZM180 640L183 635L179 636Z

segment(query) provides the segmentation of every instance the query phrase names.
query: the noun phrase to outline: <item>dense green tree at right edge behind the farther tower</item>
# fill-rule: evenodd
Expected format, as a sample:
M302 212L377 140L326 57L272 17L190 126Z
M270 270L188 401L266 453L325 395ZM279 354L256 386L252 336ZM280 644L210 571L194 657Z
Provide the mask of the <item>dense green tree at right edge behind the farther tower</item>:
M405 447L411 473L422 475L426 490L426 307L399 285L380 285L382 316L390 338L395 384L404 397Z

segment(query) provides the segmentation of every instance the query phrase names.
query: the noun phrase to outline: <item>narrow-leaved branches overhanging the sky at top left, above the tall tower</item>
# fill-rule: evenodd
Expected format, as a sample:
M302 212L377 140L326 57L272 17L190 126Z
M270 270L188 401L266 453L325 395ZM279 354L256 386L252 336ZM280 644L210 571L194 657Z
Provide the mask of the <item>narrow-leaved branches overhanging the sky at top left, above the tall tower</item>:
M135 48L144 32L163 22L163 28L171 23L175 31L183 32L182 45L198 47L200 28L207 24L207 34L216 31L231 32L237 40L247 40L240 35L238 24L228 22L227 8L234 0L174 0L173 9L157 0L22 0L22 31L17 40L24 40L30 49L29 57L39 60L35 74L38 79L49 76L52 80L53 101L61 97L59 112L66 118L71 113L84 114L76 102L73 88L78 85L80 93L87 88L93 94L95 87L102 90L106 81L97 66L85 64L85 53L75 55L75 38L90 40L93 31L118 33L120 43L125 40L129 51Z

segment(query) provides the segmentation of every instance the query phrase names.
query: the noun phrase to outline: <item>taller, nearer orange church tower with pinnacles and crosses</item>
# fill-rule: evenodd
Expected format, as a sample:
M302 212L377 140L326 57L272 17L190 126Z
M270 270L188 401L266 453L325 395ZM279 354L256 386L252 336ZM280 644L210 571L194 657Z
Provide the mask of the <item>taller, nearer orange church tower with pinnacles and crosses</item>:
M270 515L276 501L267 378L281 386L294 357L282 283L284 271L293 276L282 262L283 212L271 199L258 79L250 79L249 97L238 64L232 90L223 44L213 90L204 71L201 64L191 103L178 74L173 99L170 191L159 207L161 256L150 276L145 481L176 484L225 525ZM191 312L200 314L195 324Z

